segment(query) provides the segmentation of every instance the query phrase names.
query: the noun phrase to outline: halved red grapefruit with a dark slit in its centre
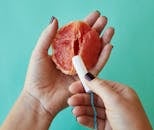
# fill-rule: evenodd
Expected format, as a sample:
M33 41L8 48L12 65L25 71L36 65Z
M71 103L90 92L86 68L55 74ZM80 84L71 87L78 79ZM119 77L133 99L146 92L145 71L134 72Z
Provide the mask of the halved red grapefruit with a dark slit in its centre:
M81 21L60 28L51 45L53 62L68 75L76 74L72 64L73 56L80 55L89 70L96 65L102 49L99 33Z

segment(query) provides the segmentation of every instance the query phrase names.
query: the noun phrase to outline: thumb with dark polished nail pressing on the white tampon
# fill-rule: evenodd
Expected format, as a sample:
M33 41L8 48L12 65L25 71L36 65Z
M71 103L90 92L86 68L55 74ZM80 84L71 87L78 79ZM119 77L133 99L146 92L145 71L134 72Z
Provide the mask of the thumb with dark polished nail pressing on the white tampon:
M93 91L96 95L101 97L104 104L111 104L119 98L120 96L114 91L110 84L107 84L105 80L99 78L92 78L91 73L87 73L85 75L86 84L88 85L89 89Z

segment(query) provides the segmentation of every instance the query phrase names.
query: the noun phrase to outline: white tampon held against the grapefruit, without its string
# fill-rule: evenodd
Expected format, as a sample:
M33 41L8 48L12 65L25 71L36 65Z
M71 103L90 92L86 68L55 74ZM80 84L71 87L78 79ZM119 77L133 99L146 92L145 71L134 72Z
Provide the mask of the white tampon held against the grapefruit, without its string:
M85 91L87 93L91 92L90 89L88 88L88 86L85 83L84 76L88 73L88 71L86 69L86 66L85 66L81 56L79 56L79 55L74 56L72 58L72 62L73 62L74 68L75 68L75 70L76 70L76 72L79 76L79 79L82 82L82 85L83 85Z

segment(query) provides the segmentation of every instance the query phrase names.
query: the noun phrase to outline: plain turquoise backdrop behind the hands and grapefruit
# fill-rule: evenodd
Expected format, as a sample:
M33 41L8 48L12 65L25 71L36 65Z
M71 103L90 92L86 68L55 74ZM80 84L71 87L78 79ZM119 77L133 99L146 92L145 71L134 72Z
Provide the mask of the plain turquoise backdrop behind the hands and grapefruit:
M31 52L50 17L62 26L99 10L116 30L112 55L99 76L134 88L154 126L153 5L153 0L0 0L0 124L22 90ZM51 129L87 128L67 108Z

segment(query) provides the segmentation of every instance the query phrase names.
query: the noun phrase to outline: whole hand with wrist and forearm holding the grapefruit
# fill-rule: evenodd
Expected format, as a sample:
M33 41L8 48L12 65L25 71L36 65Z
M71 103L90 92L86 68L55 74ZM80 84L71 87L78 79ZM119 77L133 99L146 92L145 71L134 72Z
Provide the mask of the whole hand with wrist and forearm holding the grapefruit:
M92 28L101 33L107 19L98 11L92 12L85 19ZM32 52L24 88L1 126L1 130L46 130L56 114L68 106L71 96L69 85L78 80L77 76L67 76L56 69L48 54L50 44L57 32L58 21L54 19L42 32ZM110 40L113 28L108 28L101 37L102 52L98 62L90 71L97 75L110 56Z

